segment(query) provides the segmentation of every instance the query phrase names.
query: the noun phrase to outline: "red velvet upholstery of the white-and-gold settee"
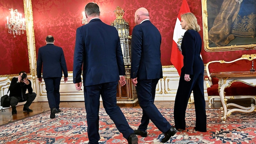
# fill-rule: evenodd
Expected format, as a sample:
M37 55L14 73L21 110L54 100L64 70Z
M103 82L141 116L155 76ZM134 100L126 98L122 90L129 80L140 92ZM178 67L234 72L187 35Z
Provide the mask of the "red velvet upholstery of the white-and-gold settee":
M232 63L210 63L209 72L227 72L227 71L250 71L252 68L252 60L238 60ZM219 96L218 92L218 78L212 77L212 85L207 88L208 96ZM226 96L236 96L236 95L255 95L256 87L244 84L242 82L234 82L230 87L225 89Z

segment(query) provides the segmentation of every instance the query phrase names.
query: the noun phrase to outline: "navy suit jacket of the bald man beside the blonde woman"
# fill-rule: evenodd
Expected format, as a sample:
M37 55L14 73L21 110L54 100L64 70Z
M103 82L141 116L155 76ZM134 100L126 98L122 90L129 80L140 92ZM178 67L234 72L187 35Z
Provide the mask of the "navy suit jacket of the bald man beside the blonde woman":
M161 34L149 20L133 28L131 78L163 78L160 45Z

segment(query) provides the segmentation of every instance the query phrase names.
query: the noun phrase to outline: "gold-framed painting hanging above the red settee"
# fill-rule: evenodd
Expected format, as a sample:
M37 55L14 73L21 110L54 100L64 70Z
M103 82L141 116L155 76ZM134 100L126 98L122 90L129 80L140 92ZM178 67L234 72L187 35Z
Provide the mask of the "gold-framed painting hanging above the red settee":
M252 28L249 33L234 30L237 28L235 26L238 25L238 22L245 28L249 27L246 25L248 21L241 20L245 18L239 15L240 10L244 11L242 6L245 4L242 4L242 0L202 0L205 51L219 52L256 49L256 30L253 28L255 23L254 26L251 26ZM253 5L246 7L246 11L252 10L255 12L255 9ZM253 21L255 16L256 13L248 14L246 20Z

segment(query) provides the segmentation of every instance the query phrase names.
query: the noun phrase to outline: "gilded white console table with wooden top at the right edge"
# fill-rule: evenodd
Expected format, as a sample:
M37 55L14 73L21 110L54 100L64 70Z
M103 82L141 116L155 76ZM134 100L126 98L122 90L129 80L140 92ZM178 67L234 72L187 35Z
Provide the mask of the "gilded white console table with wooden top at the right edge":
M220 109L224 112L224 115L221 117L222 123L225 123L227 117L231 115L232 112L245 112L250 113L256 111L256 107L254 104L251 104L251 107L243 107L235 103L228 103L225 98L225 88L229 87L234 82L242 82L244 84L248 84L251 86L256 86L256 72L220 72L220 73L212 73L212 77L219 78L219 93L220 93L220 100L222 106ZM227 107L234 106L236 108Z

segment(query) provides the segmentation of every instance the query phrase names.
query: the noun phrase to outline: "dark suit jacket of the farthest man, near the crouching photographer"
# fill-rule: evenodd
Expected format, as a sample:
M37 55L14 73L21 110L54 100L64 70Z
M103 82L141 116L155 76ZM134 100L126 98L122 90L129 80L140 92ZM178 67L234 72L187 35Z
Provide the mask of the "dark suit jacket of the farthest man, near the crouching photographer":
M68 69L66 60L61 47L54 44L46 44L38 50L37 57L37 77L41 78L42 66L43 66L43 78L50 77L62 77L62 71L64 77L68 77Z

